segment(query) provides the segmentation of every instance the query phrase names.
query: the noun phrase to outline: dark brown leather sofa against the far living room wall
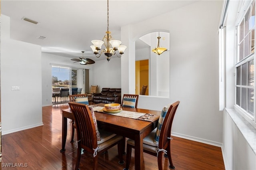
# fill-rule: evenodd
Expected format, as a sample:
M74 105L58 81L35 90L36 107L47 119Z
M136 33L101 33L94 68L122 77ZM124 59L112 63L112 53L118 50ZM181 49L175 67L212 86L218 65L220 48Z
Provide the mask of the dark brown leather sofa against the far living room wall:
M92 103L120 103L121 89L102 88L100 93L92 93Z

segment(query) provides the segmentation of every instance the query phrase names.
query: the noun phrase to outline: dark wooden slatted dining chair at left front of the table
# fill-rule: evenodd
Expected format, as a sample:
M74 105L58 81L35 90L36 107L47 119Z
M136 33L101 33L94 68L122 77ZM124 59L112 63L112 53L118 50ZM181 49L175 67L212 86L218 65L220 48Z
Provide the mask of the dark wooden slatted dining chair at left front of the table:
M116 144L118 145L119 164L124 164L122 157L123 137L106 131L101 131L98 134L98 126L93 109L89 109L88 105L84 105L82 103L69 102L68 104L74 115L77 130L77 156L75 170L78 170L82 149L92 154L94 162L93 169L97 170L98 155ZM97 138L100 138L100 140Z

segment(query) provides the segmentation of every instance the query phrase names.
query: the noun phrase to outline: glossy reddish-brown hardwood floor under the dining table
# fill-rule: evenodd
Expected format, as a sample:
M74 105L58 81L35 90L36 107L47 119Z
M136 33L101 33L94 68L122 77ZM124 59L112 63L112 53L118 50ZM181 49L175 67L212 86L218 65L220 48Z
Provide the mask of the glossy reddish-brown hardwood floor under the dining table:
M62 136L62 109L68 104L42 107L43 126L2 136L3 170L72 170L76 162L75 142L70 143L70 128L66 152L60 153ZM174 120L175 121L175 120ZM75 137L76 140L76 137ZM126 156L124 156L126 159ZM172 159L176 170L224 170L221 148L173 136ZM157 170L157 158L144 153L146 170ZM168 170L168 159L163 159ZM9 166L9 167L7 167ZM23 166L23 167L20 167ZM122 170L118 164L117 146L99 156L99 170ZM92 156L82 154L81 170L92 169ZM130 170L134 169L134 150Z

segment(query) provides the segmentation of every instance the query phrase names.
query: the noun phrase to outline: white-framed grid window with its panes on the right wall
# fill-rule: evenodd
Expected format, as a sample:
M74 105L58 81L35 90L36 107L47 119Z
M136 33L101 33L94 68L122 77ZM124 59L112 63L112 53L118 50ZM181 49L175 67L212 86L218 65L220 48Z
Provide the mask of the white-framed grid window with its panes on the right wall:
M238 24L235 108L255 127L255 1L246 9Z

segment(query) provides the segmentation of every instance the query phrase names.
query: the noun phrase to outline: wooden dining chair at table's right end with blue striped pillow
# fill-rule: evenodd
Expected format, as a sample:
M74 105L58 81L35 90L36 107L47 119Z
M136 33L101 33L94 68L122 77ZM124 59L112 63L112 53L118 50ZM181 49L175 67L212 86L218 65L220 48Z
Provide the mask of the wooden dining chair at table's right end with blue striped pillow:
M168 107L164 107L162 110L161 116L162 119L158 121L158 127L154 129L148 136L143 139L143 152L156 156L158 159L158 170L162 170L162 154L165 153L165 157L168 157L170 166L169 168L174 170L175 166L172 163L171 156L171 131L172 131L172 122L174 115L178 108L180 101L176 101ZM166 110L168 110L166 112ZM165 115L165 117L164 117ZM163 120L163 121L162 121ZM160 129L160 132L159 132ZM156 141L158 140L158 142ZM128 170L130 166L130 160L132 155L132 148L134 148L134 140L127 140L127 155L126 155L126 168Z

